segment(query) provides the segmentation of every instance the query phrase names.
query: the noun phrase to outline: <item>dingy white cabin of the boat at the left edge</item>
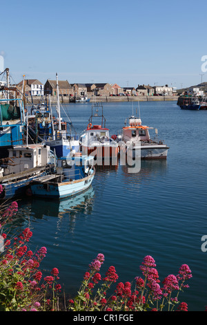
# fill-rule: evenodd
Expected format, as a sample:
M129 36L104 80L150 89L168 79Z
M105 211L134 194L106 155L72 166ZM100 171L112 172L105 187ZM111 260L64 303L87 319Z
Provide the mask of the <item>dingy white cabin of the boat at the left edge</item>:
M51 163L50 147L43 145L20 145L9 150L9 165L4 167L4 175L16 174Z

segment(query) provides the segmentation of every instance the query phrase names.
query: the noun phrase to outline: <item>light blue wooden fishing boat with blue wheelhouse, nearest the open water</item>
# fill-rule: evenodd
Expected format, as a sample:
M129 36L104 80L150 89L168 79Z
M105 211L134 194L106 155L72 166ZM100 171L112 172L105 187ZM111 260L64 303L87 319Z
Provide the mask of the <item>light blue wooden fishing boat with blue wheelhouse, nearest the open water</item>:
M92 184L95 176L92 156L67 156L57 159L55 174L32 180L33 196L67 198L80 194Z

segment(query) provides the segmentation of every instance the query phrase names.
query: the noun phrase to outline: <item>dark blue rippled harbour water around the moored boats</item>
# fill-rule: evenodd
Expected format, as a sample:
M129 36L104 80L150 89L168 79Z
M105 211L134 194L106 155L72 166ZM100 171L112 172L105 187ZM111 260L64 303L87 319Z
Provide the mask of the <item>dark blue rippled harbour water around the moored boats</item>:
M111 135L137 107L135 102L103 103ZM91 103L64 109L77 133L87 127ZM140 112L143 124L157 128L170 147L166 161L142 161L137 174L120 164L99 167L86 193L61 202L21 200L12 232L30 227L30 248L48 250L41 268L48 274L57 267L60 283L71 295L98 253L105 256L101 275L115 266L123 282L141 276L139 266L146 255L155 259L161 281L177 275L186 263L193 278L180 301L188 310L204 310L207 252L201 250L201 237L207 235L207 112L184 111L176 102L141 102Z

